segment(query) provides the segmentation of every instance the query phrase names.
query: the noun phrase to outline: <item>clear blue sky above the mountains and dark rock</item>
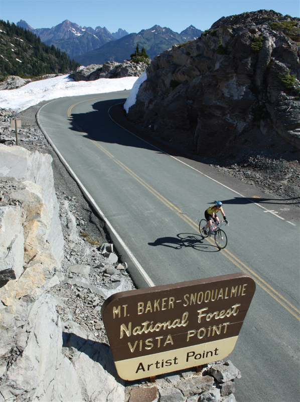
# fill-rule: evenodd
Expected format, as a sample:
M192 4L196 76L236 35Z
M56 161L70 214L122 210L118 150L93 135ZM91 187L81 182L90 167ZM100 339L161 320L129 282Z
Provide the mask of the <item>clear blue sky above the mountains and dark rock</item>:
M25 20L33 28L69 20L110 32L139 32L156 24L181 32L190 25L204 31L222 16L261 9L300 17L299 8L299 0L0 0L0 19Z

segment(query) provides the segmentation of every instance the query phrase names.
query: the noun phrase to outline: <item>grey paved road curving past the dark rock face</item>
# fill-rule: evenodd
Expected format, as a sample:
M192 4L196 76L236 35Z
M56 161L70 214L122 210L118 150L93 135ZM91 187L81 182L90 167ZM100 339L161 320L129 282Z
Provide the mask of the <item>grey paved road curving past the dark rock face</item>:
M247 203L199 173L203 165L191 168L117 126L108 109L127 96L62 98L41 109L40 122L150 278L121 248L139 287L241 271L253 276L257 290L230 355L242 372L236 398L298 401L298 221ZM230 221L223 251L197 230L215 199Z

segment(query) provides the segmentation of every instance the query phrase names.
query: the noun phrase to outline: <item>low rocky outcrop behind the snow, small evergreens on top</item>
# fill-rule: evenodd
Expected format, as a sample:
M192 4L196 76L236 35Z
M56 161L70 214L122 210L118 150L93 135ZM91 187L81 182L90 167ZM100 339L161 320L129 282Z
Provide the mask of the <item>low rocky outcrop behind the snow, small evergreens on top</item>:
M124 60L122 63L107 61L102 64L90 64L87 67L78 67L70 74L75 81L94 81L99 78L138 77L146 69L147 64L140 61Z

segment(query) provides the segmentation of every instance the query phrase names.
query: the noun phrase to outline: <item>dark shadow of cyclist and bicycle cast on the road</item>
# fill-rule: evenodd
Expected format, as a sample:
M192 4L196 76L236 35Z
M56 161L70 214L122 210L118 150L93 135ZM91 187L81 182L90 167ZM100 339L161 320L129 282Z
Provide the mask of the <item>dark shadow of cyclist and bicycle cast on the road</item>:
M154 243L148 243L149 246L164 246L171 249L180 250L184 248L192 248L194 250L203 251L206 253L215 253L219 251L215 245L204 243L204 238L201 234L195 233L178 233L177 237L160 237Z

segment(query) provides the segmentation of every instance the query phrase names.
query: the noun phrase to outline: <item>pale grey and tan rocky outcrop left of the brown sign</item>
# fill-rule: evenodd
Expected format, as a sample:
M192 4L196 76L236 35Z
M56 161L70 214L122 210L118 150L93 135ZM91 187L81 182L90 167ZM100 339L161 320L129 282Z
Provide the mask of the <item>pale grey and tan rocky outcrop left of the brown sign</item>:
M0 401L123 402L124 385L117 377L109 347L76 324L70 310L68 323L62 323L57 312L58 305L66 304L51 289L60 289L61 282L66 288L73 286L61 272L61 250L49 240L51 228L56 228L55 235L61 236L60 246L64 246L60 222L60 230L51 226L57 204L51 191L52 158L17 146L2 145L0 149ZM14 164L18 166L14 168ZM29 177L35 183L24 180ZM37 184L41 180L43 187ZM78 236L67 200L60 214L68 244L81 250L84 240ZM94 257L89 248L83 250ZM89 266L71 266L69 272L70 278L71 273L78 275L73 282L76 289L82 288L84 293L90 288L96 295L98 291L102 300L131 289L123 275L115 275L116 286L108 285L101 292L90 283ZM86 279L80 277L83 273ZM101 296L93 306L96 315Z

